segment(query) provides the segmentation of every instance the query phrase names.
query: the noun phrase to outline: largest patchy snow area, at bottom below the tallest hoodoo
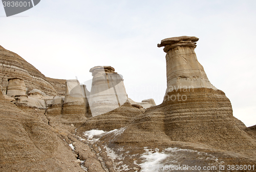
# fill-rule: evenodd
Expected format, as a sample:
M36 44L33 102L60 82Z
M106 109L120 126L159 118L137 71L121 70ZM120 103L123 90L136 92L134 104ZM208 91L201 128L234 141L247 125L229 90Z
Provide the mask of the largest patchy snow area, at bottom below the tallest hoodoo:
M224 162L218 162L218 158L207 154L205 152L198 152L194 150L179 149L179 148L167 148L161 153L158 149L146 149L145 153L141 155L142 158L141 172L155 172L155 171L175 171L175 170L188 170L180 169L183 165L190 167L200 166L205 167L217 167ZM177 168L177 169L176 169ZM208 171L197 168L195 171ZM189 170L188 170L189 171Z

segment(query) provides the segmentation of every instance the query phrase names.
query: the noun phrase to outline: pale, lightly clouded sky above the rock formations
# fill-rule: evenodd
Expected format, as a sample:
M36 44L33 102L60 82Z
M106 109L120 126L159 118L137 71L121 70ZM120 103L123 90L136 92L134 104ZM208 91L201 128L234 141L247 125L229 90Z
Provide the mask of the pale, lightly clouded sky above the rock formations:
M162 39L199 38L195 52L211 84L225 92L233 115L256 125L256 1L41 0L6 17L0 4L0 45L46 77L92 79L110 65L128 96L161 104L166 89Z

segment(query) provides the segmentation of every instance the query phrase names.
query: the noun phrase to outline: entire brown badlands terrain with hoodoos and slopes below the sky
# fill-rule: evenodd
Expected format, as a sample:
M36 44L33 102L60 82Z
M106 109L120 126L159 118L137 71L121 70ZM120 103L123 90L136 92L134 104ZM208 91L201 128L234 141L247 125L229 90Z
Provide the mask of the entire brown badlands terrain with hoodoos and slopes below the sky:
M88 69L89 91L0 45L0 171L256 171L256 126L210 83L198 40L158 44L167 87L157 106L129 99L113 66Z

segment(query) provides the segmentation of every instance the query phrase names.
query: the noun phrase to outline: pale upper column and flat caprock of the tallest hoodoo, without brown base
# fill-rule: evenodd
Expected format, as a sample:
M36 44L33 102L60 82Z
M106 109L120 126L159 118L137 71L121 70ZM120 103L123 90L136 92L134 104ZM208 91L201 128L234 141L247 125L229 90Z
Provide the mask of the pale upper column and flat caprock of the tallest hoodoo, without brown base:
M164 46L163 51L166 53L166 94L180 88L217 89L211 85L197 60L194 49L198 40L195 36L180 36L163 39L158 44L158 47Z

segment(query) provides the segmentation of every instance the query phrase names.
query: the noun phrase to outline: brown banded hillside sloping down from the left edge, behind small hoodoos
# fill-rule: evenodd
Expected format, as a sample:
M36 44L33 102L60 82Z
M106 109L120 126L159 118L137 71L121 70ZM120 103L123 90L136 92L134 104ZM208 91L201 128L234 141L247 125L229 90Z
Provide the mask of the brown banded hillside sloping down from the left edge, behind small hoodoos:
M0 85L3 86L3 90L6 90L9 78L23 79L29 91L36 88L48 95L57 95L63 92L63 89L65 90L62 80L45 77L22 57L0 45ZM48 79L51 81L49 82ZM58 91L55 90L51 82Z

